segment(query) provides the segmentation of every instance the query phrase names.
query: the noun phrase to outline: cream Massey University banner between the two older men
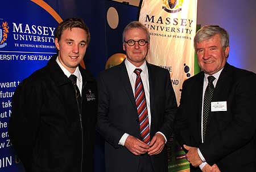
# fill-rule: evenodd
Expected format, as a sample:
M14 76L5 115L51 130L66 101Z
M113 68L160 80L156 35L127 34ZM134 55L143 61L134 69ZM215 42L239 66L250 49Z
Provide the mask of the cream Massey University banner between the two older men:
M139 21L150 31L147 61L167 68L179 104L183 81L194 74L197 0L144 0Z

